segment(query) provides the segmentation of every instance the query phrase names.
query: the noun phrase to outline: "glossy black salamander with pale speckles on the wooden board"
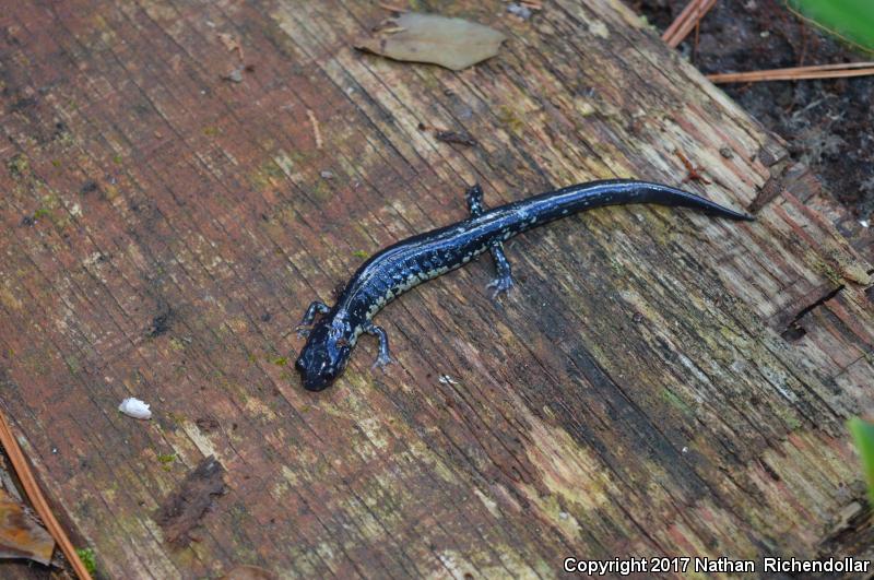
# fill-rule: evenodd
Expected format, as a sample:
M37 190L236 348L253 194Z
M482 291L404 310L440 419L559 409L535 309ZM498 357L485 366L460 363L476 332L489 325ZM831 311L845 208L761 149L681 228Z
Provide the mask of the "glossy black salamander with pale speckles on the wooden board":
M503 242L532 227L602 205L629 203L676 205L729 220L753 220L680 189L625 179L566 187L488 211L483 209L480 186L470 188L466 198L468 220L389 246L362 264L333 307L318 300L309 305L298 327L308 339L295 363L306 389L320 391L331 384L346 367L362 333L379 339L375 366L390 363L388 336L373 318L413 286L491 251L498 276L488 286L495 295L510 289L510 264ZM321 315L319 320L317 315Z

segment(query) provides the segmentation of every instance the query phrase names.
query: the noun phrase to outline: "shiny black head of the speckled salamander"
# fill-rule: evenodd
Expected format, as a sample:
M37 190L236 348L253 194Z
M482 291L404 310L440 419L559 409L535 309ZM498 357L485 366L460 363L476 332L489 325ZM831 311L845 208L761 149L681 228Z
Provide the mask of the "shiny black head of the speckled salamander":
M294 364L306 390L321 391L343 372L352 352L352 336L345 320L322 318L316 322Z

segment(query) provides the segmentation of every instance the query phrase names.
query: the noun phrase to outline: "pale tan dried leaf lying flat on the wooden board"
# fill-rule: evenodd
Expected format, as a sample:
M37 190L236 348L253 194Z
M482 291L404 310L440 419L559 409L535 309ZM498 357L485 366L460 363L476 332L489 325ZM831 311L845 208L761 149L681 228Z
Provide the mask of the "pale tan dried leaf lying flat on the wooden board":
M506 36L462 19L408 12L390 21L391 35L359 40L355 48L394 60L432 62L459 71L492 58Z

